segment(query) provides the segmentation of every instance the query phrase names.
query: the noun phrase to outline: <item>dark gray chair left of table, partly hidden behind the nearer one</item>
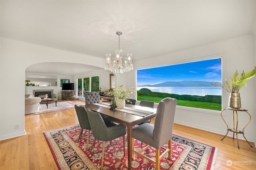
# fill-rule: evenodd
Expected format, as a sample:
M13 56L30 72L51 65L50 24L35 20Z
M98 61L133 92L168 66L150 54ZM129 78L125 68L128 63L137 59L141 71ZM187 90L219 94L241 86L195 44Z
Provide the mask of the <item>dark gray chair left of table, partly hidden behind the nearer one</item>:
M75 105L75 109L76 109L76 115L77 115L77 118L78 118L78 121L79 121L79 124L81 127L81 131L80 131L77 142L79 142L79 139L83 133L83 130L87 129L88 132L87 132L86 150L88 150L91 126L90 126L90 122L89 122L89 119L87 116L87 112L86 112L86 109L82 106Z

